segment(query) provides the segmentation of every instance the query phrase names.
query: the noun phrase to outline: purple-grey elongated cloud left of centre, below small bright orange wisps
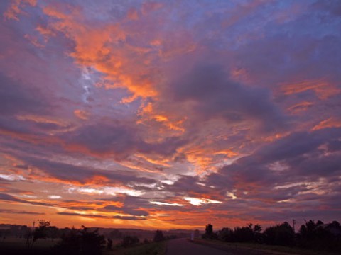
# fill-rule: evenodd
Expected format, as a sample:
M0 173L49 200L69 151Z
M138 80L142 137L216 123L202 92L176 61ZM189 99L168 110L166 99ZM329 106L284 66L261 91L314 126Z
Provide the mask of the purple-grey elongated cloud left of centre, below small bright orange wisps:
M99 123L85 125L63 136L71 143L82 145L97 154L114 153L118 159L129 157L135 152L171 156L185 144L179 137L168 137L161 142L146 142L142 125L131 122L99 120Z

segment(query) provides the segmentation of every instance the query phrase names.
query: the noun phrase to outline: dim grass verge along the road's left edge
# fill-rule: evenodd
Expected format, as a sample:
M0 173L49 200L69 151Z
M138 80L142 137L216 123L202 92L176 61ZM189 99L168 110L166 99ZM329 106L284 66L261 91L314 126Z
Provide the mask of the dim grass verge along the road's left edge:
M150 244L139 244L126 249L105 251L104 255L164 255L166 254L166 242L151 242Z

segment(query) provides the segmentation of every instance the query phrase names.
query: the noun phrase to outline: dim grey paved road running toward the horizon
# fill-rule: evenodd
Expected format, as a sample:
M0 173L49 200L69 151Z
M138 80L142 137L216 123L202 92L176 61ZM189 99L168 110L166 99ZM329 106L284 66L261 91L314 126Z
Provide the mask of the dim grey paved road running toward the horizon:
M234 255L226 251L220 251L200 244L193 244L188 239L173 239L168 241L167 255Z

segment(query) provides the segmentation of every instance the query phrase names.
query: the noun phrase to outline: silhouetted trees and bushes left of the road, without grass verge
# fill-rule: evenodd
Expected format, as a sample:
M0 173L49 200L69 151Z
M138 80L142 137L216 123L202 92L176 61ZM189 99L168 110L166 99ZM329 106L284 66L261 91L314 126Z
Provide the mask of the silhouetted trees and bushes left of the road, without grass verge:
M153 239L144 239L140 241L139 237L126 235L113 229L109 234L99 233L99 229L91 230L82 225L80 229L62 228L51 226L50 221L38 220L38 226L15 226L0 232L1 239L6 236L15 236L26 240L26 251L20 254L39 254L35 249L35 244L39 239L58 239L58 242L48 251L48 254L63 255L101 255L105 249L121 249L139 244L148 244L149 242L161 242L165 239L175 238L165 237L161 230L156 230ZM113 245L113 239L117 244Z

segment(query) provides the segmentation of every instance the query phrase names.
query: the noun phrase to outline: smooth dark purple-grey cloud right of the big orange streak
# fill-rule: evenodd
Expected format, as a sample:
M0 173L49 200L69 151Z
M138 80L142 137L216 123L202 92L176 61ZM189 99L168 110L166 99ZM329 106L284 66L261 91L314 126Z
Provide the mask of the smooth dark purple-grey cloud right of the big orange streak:
M256 122L264 131L283 130L288 125L288 117L271 101L269 90L232 81L220 64L195 67L175 80L171 89L175 101L193 101L193 114L200 118Z

